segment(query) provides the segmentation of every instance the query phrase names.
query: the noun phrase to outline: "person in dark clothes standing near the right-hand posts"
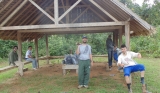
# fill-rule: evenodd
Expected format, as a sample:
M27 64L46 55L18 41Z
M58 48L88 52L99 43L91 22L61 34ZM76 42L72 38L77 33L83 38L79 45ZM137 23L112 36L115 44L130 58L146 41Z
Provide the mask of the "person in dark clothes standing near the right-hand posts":
M109 66L109 70L111 70L111 68L112 68L113 48L114 48L114 44L113 44L113 41L111 39L111 35L109 35L107 40L106 40L106 47L107 47L107 51L108 51L108 66Z

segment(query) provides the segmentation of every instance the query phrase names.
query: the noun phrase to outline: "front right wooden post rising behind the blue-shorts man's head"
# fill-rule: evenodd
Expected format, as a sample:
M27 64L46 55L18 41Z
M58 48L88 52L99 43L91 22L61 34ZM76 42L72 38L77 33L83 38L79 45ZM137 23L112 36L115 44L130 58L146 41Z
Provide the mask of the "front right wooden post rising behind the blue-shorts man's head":
M127 49L130 50L130 23L125 24L125 41Z

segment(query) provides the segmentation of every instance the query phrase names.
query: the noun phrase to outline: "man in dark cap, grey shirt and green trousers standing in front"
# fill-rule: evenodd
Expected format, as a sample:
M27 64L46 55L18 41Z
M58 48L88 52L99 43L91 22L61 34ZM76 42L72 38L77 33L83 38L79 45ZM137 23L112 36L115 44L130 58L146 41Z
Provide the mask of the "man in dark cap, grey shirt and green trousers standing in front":
M76 54L78 55L78 89L84 87L88 88L90 77L90 65L93 66L91 46L87 44L87 37L82 37L82 44L78 45Z

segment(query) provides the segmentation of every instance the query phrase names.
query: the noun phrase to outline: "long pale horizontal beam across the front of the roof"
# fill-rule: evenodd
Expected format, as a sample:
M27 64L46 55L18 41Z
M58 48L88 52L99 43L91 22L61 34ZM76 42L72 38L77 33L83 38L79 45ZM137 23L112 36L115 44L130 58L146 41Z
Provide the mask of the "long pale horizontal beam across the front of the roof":
M66 27L97 27L97 26L117 26L125 25L125 22L97 22L97 23L74 23L74 24L46 24L46 25L29 25L29 26L8 26L0 27L0 30L22 30L22 29L49 29L49 28L66 28Z

